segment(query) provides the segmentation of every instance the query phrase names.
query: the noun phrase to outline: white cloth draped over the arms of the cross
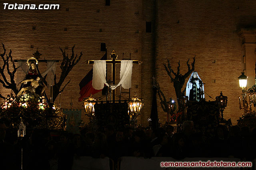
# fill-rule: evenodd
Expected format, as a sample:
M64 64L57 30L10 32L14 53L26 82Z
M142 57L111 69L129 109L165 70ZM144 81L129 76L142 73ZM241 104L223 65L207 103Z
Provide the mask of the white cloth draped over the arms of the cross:
M96 90L104 88L104 84L109 86L106 81L106 61L95 60L93 64L92 87ZM120 69L120 82L110 86L112 90L122 85L129 89L132 86L132 60L122 60Z

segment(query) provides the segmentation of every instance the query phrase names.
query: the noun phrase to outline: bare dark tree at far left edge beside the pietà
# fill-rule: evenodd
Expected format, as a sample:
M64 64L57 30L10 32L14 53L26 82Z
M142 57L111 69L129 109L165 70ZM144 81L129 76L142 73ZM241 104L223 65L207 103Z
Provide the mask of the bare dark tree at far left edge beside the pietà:
M12 50L10 50L9 54L7 55L6 49L5 49L3 43L2 43L2 47L4 49L4 53L1 54L1 58L4 62L4 64L2 67L0 67L0 74L2 76L2 78L0 78L0 82L2 83L4 88L11 89L15 94L18 94L18 90L16 88L16 83L14 81L14 74L17 71L17 67L15 66L14 61L12 60ZM5 55L6 55L6 57L5 57ZM10 71L9 62L12 63L13 71ZM7 70L7 73L10 76L10 82L7 80L7 78L4 74L5 70ZM4 97L2 95L0 95L0 97L4 99Z

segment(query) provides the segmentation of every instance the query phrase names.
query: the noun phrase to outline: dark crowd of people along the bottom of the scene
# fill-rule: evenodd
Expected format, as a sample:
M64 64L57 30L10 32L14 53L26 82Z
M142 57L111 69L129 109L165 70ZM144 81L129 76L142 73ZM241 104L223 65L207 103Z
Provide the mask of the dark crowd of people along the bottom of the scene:
M80 134L62 131L58 135L46 129L28 129L25 137L19 139L16 130L6 130L0 122L0 152L1 170L20 169L21 154L24 170L71 170L73 160L80 156L107 156L115 164L122 156L166 156L177 160L234 157L250 161L256 157L256 129L235 125L228 130L219 125L214 137L207 138L195 131L192 121L185 121L180 133L174 133L171 125L154 130L115 129L107 125L104 131L83 129Z

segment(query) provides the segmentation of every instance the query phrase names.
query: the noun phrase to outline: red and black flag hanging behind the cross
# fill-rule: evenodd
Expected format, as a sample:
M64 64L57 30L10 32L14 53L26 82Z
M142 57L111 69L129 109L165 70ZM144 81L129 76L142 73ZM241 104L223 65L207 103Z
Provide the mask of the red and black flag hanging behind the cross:
M104 56L100 60L106 60L107 59L107 51L104 54ZM92 69L86 74L86 76L83 78L83 80L79 83L80 86L80 98L78 99L79 102L81 102L84 98L87 98L90 96L90 94L96 94L101 90L96 90L92 87Z

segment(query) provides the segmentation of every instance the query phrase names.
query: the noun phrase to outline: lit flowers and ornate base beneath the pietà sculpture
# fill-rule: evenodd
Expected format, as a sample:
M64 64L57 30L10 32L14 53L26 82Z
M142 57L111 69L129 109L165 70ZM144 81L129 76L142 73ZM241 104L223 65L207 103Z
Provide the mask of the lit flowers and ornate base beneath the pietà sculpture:
M24 95L19 101L13 96L8 96L4 103L0 105L0 119L7 127L17 127L22 118L26 127L40 129L62 129L64 128L64 113L62 109L49 107L44 98L39 98L37 102L27 100L32 97ZM22 100L22 101L21 101Z

